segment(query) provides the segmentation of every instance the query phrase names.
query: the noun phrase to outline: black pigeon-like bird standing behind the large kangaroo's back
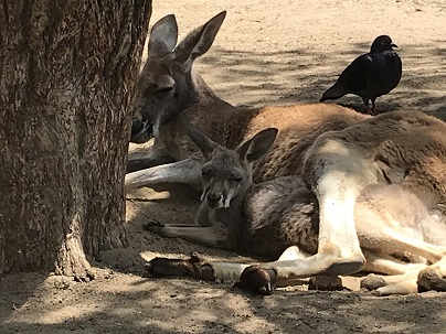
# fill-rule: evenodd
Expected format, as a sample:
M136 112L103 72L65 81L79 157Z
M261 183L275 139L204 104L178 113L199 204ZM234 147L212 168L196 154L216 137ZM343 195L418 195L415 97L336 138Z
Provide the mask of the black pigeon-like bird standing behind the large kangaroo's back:
M371 115L376 115L376 97L391 91L401 79L401 58L392 47L397 46L390 36L378 36L370 52L357 57L341 73L336 84L322 94L320 101L354 94L362 97ZM369 107L370 100L372 108Z

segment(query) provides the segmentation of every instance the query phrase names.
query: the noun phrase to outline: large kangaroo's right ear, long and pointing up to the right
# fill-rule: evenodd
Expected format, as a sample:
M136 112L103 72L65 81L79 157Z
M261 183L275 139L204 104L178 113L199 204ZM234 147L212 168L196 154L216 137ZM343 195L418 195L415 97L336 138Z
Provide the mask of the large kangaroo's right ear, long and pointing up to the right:
M193 61L211 47L225 17L226 12L223 11L189 33L174 50L176 60L190 68Z

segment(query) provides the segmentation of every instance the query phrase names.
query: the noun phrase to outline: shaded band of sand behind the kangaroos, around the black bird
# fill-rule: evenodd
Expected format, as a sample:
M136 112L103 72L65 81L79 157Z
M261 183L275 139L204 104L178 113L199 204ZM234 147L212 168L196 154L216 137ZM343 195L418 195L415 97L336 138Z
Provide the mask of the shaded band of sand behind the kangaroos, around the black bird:
M378 98L380 111L424 110L446 119L446 96L442 89L446 80L446 50L439 47L445 42L404 45L399 51L403 77L393 91ZM352 51L341 53L305 49L254 53L216 47L201 60L200 68L211 87L233 104L316 103L350 62L369 49L365 43L357 43ZM337 103L360 112L365 110L357 96L346 96Z

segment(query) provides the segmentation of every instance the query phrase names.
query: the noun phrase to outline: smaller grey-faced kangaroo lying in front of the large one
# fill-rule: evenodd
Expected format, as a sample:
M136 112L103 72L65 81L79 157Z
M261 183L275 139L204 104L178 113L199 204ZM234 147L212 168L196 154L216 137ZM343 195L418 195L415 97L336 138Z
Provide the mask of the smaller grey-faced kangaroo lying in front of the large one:
M405 120L416 118L407 117ZM364 129L369 127L370 123L363 125ZM445 130L444 125L436 130L442 130L442 127ZM350 131L350 134L355 131ZM240 278L241 287L262 294L272 293L276 284L291 284L296 278L346 273L346 266L351 265L347 258L342 261L341 257L343 251L349 256L351 245L325 249L332 251L331 255L320 252L319 244L325 241L319 237L320 207L304 175L279 176L258 184L252 181L252 164L267 153L277 129L262 130L234 150L223 148L193 127L188 127L187 132L204 157L201 177L203 204L198 217L208 219L209 223L202 225L210 227L151 226L150 229L164 237L181 237L278 260L249 267L243 263L206 263L198 255L189 261L156 258L146 267L149 272L216 281ZM389 134L396 138L403 132L405 130L400 133L391 130ZM422 159L436 160L432 171L439 171L446 162L446 141L435 138L435 131L431 134L434 138L424 143L425 154L431 144L443 143L443 155L442 150L436 148L429 153L439 153L437 157L426 154ZM334 133L330 137L344 138ZM439 138L446 139L444 136ZM349 143L350 148L358 144L354 141ZM362 144L367 146L365 142ZM436 181L444 181L443 177L444 174ZM352 203L355 234L365 258L361 270L386 274L369 276L362 280L362 285L376 289L380 295L446 290L443 200L438 201L434 187L420 187L420 183L412 182L370 183L358 190L355 203ZM330 233L332 239L342 234L334 228ZM336 257L339 259L333 263Z

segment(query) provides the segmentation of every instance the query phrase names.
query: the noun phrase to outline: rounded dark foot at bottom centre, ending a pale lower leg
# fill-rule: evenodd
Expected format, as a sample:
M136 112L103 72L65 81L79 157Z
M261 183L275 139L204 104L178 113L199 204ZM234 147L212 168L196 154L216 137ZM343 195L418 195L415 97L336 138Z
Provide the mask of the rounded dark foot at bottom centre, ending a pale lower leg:
M268 295L275 288L277 272L274 269L264 269L258 266L251 266L243 270L240 282L234 287L248 290L254 293Z

